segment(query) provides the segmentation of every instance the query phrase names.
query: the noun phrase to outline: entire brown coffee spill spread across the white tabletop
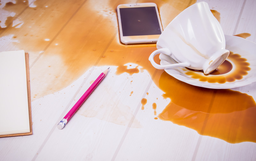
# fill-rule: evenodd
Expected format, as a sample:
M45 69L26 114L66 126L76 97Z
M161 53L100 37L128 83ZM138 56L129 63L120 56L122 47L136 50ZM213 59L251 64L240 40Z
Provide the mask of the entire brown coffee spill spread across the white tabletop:
M30 70L32 98L37 99L60 91L77 80L84 71L92 66L117 66L117 75L124 72L132 75L145 69L154 84L165 92L163 97L171 99L169 105L158 115L159 119L172 121L175 124L194 129L200 135L220 138L228 143L246 141L256 143L256 104L252 96L232 90L213 90L192 86L173 78L164 70L156 70L148 61L149 55L156 50L156 44L123 45L120 43L115 9L121 2L87 0L83 9L77 12L78 5L72 2L68 4L62 3L60 0L47 1L47 4L45 2L36 1L36 10L28 8L21 14L21 18L24 20L26 14L29 14L31 16L29 22L27 21L20 28L9 26L1 33L1 36L15 34L11 38L19 41L19 43L14 43L15 48L25 49L29 52L30 64L36 61ZM196 1L177 0L167 3L153 0L152 2L158 5L162 24L165 27L172 18ZM58 10L53 3L60 4ZM23 6L23 4L17 4L17 8L21 5ZM67 11L68 5L73 7L69 7L70 10ZM170 6L175 10L168 10ZM8 7L6 7L7 9ZM52 10L56 12L56 15L63 13L63 16L51 17ZM168 13L163 13L166 10ZM42 12L40 19L38 19L37 11ZM31 14L32 12L35 14ZM69 12L76 12L70 22L68 20L72 14ZM9 23L8 21L7 24ZM65 23L67 24L65 25ZM42 56L37 60L37 56L42 52ZM159 63L157 56L155 61ZM127 63L137 64L142 69L139 70L138 67L128 69L128 66L124 65ZM39 76L38 71L45 75ZM133 89L134 92L136 90L140 89ZM118 101L118 99L116 100ZM147 99L141 99L143 109L146 103ZM152 110L153 107L155 108L155 105L150 105L148 109ZM118 109L106 109L105 114L108 116L109 113L116 110ZM130 113L128 107L127 112ZM95 117L95 113L90 113L90 111L84 111L82 114ZM132 113L130 114L126 122L132 117ZM106 118L102 115L99 119ZM112 122L120 124L120 119L113 119Z

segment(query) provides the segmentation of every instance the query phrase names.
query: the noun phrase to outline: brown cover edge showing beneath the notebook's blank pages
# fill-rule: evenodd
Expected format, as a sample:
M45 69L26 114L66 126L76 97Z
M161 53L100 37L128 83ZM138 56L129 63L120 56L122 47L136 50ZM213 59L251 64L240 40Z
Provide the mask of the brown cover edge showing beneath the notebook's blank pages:
M30 128L30 132L28 132L28 133L20 133L20 134L0 135L0 137L21 136L21 135L31 135L31 134L33 134L33 132L32 132L32 115L31 115L31 96L30 96L30 78L29 78L29 59L28 59L28 53L25 53L25 61L26 61L27 88L28 88L28 112L29 112L29 128Z

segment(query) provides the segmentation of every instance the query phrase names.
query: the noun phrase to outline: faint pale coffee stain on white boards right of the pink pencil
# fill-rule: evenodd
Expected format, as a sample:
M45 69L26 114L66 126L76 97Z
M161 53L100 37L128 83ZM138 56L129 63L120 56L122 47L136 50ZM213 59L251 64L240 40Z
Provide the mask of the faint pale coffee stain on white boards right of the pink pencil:
M131 107L124 105L122 99L119 98L114 90L109 88L106 91L101 91L101 94L104 96L104 99L99 98L97 101L92 102L89 100L86 101L85 104L76 111L76 114L85 117L95 117L117 125L130 126L131 128L142 127L140 121L134 117ZM131 120L133 120L132 124L130 124Z

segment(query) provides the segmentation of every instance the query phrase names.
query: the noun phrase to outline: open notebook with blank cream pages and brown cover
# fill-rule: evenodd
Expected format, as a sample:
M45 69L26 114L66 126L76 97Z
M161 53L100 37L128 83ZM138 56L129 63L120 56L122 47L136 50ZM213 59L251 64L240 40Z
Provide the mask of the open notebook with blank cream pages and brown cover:
M28 53L0 53L0 137L32 134Z

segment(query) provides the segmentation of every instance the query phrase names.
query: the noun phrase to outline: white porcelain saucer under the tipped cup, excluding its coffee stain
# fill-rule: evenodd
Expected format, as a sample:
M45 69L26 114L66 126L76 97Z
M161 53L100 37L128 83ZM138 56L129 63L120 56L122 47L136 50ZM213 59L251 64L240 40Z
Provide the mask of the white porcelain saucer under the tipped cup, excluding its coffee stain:
M229 51L232 51L235 54L241 55L241 57L247 59L246 62L250 63L249 67L251 70L247 71L247 75L244 75L242 79L240 80L235 80L234 82L225 82L225 83L209 83L209 82L203 82L199 81L199 79L192 78L191 76L187 75L186 72L188 72L188 69L184 67L176 67L172 69L166 69L165 71L171 75L172 77L175 77L176 79L191 84L199 87L204 87L204 88L212 88L212 89L229 89L229 88L236 88L236 87L242 87L245 85L252 84L256 82L256 43L245 40L244 38L238 37L238 36L230 36L230 35L225 35L225 40L226 40L226 49ZM172 58L170 58L167 55L160 54L159 55L160 64L161 65L168 65L168 64L173 64L176 63ZM228 58L227 58L228 60ZM232 63L233 69L235 68L235 64L228 60L229 62ZM190 72L196 72L196 71L191 71ZM234 72L233 70L229 71L226 74L219 75L219 76L228 76L230 75L231 72ZM202 72L196 72L197 74L201 74L204 76L204 73ZM218 77L214 75L208 75L209 77ZM204 77L208 77L204 76Z

